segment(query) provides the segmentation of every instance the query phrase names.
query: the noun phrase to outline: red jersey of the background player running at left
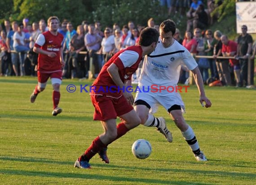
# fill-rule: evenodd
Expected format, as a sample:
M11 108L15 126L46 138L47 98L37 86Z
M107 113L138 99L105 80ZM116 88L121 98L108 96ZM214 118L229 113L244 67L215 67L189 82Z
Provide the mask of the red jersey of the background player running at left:
M48 57L47 55L38 55L38 67L39 71L61 71L62 64L60 61L60 49L62 48L63 35L58 33L57 35L51 34L50 31L45 31L40 34L35 41L35 47L41 48L44 51L50 51L57 53L54 58Z

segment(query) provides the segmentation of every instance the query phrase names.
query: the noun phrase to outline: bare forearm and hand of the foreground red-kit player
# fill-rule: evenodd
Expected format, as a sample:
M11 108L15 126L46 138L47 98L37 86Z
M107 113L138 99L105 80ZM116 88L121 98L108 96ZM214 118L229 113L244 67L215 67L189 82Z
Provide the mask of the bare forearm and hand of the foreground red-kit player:
M119 76L119 72L118 72L118 67L112 63L108 68L107 68L107 72L109 73L111 79L115 82L115 84L119 87L123 87L124 83L122 82L120 76ZM129 93L127 91L123 92L124 97L127 98L127 100L133 104L134 102L134 98L132 96L132 93Z

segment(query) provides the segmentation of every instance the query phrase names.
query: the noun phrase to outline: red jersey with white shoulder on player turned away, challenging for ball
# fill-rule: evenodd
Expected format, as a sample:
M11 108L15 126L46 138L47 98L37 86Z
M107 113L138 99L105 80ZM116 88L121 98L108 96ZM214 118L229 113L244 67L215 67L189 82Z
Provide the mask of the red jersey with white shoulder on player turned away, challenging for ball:
M112 97L120 97L123 93L123 87L117 87L107 72L107 68L114 63L119 68L119 76L122 82L124 82L125 80L130 80L132 78L132 74L137 70L141 60L141 46L130 46L115 53L115 55L102 67L100 74L92 85L95 86L95 90L91 88L90 94L108 94Z

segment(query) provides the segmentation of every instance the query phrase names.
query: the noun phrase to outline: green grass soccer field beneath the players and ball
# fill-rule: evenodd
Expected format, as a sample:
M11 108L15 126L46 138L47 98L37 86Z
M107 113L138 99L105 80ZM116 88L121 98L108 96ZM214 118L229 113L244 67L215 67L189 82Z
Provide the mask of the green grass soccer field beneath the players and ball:
M168 143L154 128L139 126L109 145L110 164L98 155L92 169L74 168L75 160L102 133L93 121L88 93L79 93L86 80L63 80L61 115L53 117L50 82L31 104L29 97L37 80L31 77L0 78L0 184L81 185L255 185L256 184L256 91L233 87L206 87L212 108L202 108L195 86L181 96L184 115L209 159L197 162L166 111L160 107L172 131ZM75 93L66 86L75 84ZM149 158L140 160L131 152L137 139L152 145Z

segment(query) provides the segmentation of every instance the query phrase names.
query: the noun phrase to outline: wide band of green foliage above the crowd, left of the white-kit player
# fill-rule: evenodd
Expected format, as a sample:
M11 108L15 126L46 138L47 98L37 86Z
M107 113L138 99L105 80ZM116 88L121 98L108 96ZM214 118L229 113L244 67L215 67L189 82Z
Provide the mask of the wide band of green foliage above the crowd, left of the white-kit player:
M61 21L68 19L74 25L83 20L100 21L102 26L111 26L114 22L123 26L130 20L146 25L151 17L156 22L162 21L159 0L10 0L8 3L0 1L0 5L1 17L11 21L27 17L35 22L53 15Z

